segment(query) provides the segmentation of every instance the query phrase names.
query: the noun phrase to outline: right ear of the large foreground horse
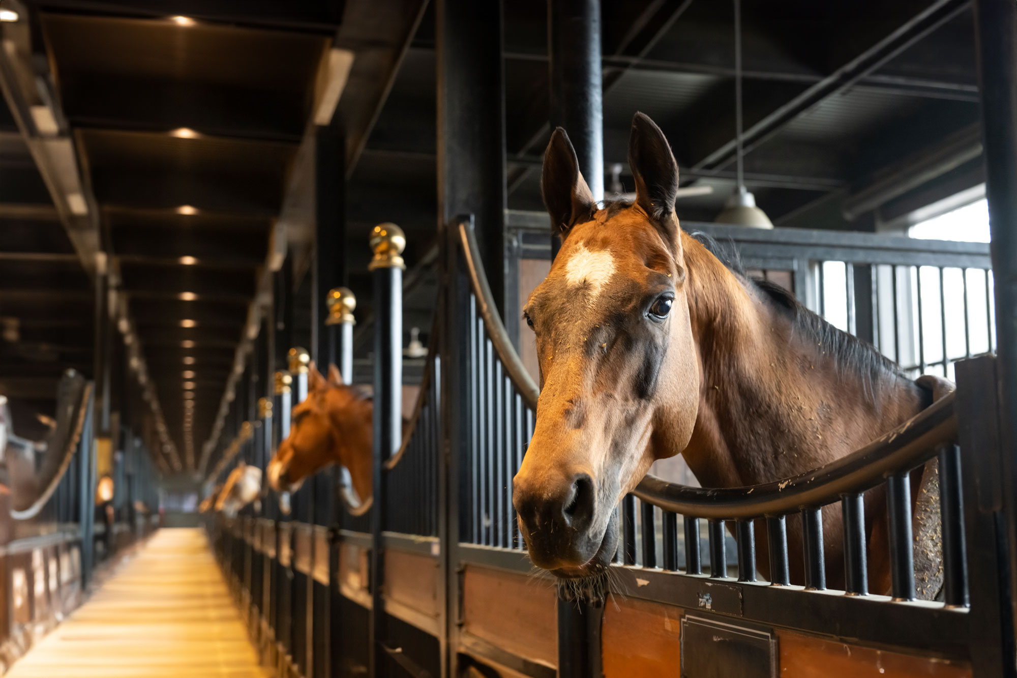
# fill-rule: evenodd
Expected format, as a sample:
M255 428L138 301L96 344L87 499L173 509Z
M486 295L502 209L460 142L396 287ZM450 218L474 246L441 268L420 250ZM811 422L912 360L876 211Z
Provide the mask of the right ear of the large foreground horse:
M645 113L633 116L629 137L629 167L636 179L636 203L662 227L673 242L677 235L674 199L678 190L678 163L664 132Z

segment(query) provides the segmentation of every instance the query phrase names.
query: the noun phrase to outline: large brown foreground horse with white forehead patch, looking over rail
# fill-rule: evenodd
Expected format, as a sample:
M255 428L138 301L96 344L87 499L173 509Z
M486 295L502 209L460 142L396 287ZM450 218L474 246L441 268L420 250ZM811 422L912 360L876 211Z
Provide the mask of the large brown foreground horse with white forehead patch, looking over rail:
M656 459L683 454L705 487L778 481L854 451L931 402L872 346L684 233L677 164L642 113L629 164L636 200L601 207L564 130L544 154L541 188L562 244L525 307L541 392L513 501L533 562L562 577L604 571L614 508ZM885 491L866 493L864 506L871 588L883 592ZM842 588L839 506L823 517L828 581ZM801 553L800 521L787 529L790 552ZM792 581L802 569L792 559Z

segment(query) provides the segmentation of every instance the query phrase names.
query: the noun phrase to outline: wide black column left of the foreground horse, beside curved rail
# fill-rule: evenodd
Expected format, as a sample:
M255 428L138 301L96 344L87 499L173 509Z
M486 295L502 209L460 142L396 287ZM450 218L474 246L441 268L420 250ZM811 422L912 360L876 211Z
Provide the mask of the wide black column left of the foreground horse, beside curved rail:
M511 299L505 294L504 208L504 88L502 46L502 3L489 0L435 0L435 57L437 82L437 178L438 242L442 243L446 275L459 275L456 244L461 222L471 222L477 235L480 257L498 313L506 316ZM470 473L467 417L461 406L468 402L462 364L466 345L463 319L455 309L463 299L464 279L447 280L446 306L441 341L442 430L446 432L448 453L444 472L438 473L438 536L444 545L440 554L438 599L444 601L438 626L440 675L458 676L456 652L459 626L459 577L457 549L460 538L460 478ZM513 290L515 293L515 290ZM511 331L511 330L510 330ZM377 500L375 500L377 501Z

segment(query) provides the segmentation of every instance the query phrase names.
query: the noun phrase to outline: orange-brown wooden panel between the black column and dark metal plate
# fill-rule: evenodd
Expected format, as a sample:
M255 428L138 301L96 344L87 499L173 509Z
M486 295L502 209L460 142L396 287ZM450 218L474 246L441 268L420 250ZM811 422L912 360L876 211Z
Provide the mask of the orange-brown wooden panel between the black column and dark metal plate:
M604 678L681 675L681 608L613 598L604 608Z

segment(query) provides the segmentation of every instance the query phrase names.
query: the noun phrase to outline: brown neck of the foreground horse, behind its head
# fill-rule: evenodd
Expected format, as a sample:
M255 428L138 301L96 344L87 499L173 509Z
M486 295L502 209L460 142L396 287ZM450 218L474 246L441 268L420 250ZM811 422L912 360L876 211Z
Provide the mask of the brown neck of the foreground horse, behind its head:
M683 451L706 487L777 481L842 457L916 414L921 390L825 351L768 294L685 237L700 403Z

